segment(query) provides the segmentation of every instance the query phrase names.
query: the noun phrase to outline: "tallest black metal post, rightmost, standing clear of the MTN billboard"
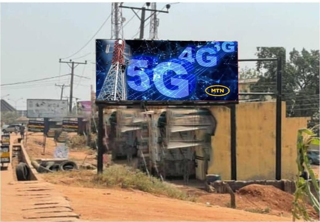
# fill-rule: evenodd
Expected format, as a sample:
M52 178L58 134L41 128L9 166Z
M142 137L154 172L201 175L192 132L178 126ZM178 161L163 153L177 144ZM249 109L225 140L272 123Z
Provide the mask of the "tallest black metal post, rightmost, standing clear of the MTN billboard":
M276 97L276 180L281 180L281 116L282 116L282 58L277 60Z

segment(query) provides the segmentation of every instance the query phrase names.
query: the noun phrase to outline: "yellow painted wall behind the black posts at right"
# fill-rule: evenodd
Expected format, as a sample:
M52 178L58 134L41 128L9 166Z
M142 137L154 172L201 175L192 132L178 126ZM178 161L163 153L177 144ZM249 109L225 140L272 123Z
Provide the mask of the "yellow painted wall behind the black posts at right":
M211 107L217 119L212 137L212 154L208 174L220 174L230 180L230 111ZM282 179L296 174L296 135L307 126L307 117L285 117L282 103ZM236 105L237 180L274 180L276 163L276 103L250 102Z

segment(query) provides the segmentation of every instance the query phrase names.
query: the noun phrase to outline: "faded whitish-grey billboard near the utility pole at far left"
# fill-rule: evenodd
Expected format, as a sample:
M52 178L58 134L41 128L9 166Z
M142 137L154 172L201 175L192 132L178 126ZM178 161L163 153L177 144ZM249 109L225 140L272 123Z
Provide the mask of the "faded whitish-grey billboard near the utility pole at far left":
M68 100L27 100L28 118L58 118L68 115Z

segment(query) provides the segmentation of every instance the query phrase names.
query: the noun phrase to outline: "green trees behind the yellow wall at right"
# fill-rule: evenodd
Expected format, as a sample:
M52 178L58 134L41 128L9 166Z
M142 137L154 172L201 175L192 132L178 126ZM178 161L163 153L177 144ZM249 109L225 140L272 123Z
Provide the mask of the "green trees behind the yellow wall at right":
M285 60L282 47L258 47L258 58L277 58ZM309 127L319 124L319 50L301 52L295 48L283 62L283 99L286 101L287 116L312 116ZM257 62L257 71L262 74L259 81L250 87L252 92L276 92L277 63Z

